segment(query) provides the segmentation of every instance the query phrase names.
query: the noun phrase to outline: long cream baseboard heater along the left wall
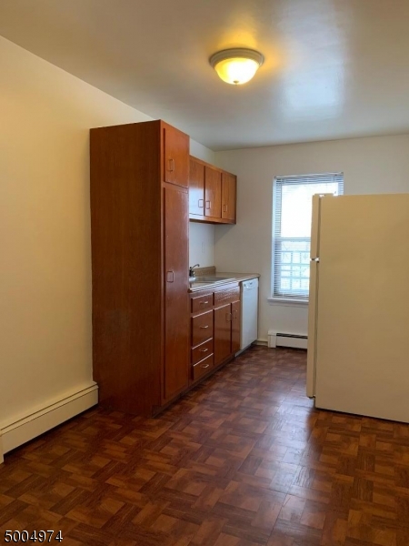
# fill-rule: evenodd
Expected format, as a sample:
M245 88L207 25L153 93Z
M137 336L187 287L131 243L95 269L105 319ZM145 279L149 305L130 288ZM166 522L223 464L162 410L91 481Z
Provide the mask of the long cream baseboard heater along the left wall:
M3 427L0 430L0 463L7 451L54 429L97 403L98 385L93 383L90 387L80 389Z

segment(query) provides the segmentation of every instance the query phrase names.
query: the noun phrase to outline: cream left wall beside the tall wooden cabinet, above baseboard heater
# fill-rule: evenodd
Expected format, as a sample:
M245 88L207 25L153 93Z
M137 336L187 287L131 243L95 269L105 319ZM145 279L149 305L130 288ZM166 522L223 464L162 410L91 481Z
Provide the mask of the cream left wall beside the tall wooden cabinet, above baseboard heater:
M89 128L150 118L1 37L0 73L1 431L93 383Z

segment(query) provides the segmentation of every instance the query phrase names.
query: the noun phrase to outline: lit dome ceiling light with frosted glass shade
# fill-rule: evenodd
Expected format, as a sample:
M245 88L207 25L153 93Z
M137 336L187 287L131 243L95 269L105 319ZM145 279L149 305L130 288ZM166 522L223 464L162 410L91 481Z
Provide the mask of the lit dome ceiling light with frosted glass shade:
M218 76L227 84L241 86L250 81L260 66L264 56L254 49L224 49L214 53L209 63Z

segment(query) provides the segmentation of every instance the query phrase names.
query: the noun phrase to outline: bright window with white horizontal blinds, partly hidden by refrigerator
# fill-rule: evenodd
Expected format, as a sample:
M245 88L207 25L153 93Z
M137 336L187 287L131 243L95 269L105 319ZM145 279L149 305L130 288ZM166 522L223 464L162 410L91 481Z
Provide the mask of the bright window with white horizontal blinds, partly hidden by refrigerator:
M273 298L308 301L312 197L344 193L344 174L275 177Z

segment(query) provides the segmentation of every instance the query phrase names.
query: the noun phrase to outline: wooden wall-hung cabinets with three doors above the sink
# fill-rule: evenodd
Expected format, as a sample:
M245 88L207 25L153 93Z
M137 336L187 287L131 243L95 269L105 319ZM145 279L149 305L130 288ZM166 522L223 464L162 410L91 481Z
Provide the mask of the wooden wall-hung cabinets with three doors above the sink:
M235 224L236 177L190 157L189 218L196 222Z

